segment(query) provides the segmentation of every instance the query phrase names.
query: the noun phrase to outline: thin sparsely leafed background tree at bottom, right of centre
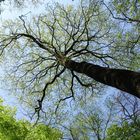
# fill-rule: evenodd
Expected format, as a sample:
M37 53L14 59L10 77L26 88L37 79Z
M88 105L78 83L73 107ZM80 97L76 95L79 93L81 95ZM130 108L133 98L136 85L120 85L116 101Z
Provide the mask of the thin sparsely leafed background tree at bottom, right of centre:
M74 117L73 122L63 127L67 134L69 132L72 140L105 140L108 126L112 124L114 117L113 106L110 105L106 111L103 112L95 105L85 105L85 108Z

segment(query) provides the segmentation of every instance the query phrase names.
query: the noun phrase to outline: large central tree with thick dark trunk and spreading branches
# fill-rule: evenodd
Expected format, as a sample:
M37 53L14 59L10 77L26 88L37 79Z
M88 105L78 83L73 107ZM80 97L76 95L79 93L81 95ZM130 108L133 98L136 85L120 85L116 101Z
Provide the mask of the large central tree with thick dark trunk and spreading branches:
M32 23L24 15L16 22L7 21L1 29L1 56L15 64L7 78L38 116L46 109L45 98L53 99L57 107L52 109L57 111L62 101L75 99L77 88L96 92L97 82L140 98L140 73L126 70L131 69L130 59L133 63L133 56L139 54L139 39L123 37L127 32L121 24L109 18L100 0L82 0L77 7L55 4ZM129 31L138 36L133 24L130 26ZM58 98L52 97L55 92Z

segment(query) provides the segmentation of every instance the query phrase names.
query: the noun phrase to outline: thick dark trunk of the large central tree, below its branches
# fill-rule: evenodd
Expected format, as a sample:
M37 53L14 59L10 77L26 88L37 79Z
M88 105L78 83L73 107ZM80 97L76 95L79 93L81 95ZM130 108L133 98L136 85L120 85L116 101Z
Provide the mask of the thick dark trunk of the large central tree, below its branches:
M138 72L111 69L87 62L79 63L73 60L67 60L65 67L140 98L140 73Z

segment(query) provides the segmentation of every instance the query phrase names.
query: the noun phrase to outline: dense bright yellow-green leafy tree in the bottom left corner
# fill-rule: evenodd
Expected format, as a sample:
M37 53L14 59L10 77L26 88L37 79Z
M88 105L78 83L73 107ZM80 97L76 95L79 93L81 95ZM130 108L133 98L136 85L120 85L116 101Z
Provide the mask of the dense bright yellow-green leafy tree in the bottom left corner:
M0 100L0 139L6 140L58 140L62 133L45 124L33 124L26 120L16 120L15 110L3 106Z

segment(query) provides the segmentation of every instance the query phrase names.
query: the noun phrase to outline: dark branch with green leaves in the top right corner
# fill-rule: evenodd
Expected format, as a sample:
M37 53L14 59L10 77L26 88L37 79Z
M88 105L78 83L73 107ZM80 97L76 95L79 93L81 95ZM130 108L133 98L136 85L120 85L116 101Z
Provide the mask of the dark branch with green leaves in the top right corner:
M126 22L134 22L137 24L140 23L139 20L140 11L138 10L139 1L113 0L113 2L110 3L109 6L107 6L105 3L104 5L107 7L113 18Z

